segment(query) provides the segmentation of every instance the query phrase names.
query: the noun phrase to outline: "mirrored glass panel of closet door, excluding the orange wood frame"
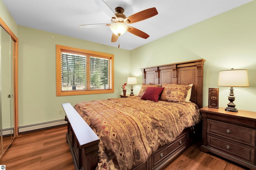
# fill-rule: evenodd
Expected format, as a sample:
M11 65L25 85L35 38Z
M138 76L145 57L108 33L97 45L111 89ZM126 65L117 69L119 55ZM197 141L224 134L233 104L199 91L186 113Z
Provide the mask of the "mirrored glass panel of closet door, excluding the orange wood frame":
M13 101L13 41L10 35L1 27L0 30L0 112L1 139L3 153L14 138L14 101Z

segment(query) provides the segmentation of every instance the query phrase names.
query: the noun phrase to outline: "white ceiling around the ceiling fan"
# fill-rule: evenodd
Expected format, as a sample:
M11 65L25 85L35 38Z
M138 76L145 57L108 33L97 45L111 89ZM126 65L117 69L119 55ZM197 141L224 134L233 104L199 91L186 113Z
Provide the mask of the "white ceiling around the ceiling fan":
M111 43L109 26L80 28L78 25L111 23L110 17L94 0L2 0L18 25L84 39L104 45ZM130 26L150 37L143 39L129 32L120 36L120 48L132 50L170 33L206 20L252 0L104 0L115 12L124 8L128 17L156 7L158 15Z

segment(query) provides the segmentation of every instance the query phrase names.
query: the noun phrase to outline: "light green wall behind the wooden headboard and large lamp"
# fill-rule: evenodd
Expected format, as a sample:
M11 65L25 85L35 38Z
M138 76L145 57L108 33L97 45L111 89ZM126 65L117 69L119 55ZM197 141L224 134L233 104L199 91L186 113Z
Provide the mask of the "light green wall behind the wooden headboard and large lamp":
M195 59L206 60L203 106L208 106L208 88L219 88L220 107L229 103L229 88L217 86L220 70L248 69L250 87L234 88L234 104L256 111L256 1L132 50L131 72L141 76L143 67ZM134 86L135 93L139 90Z

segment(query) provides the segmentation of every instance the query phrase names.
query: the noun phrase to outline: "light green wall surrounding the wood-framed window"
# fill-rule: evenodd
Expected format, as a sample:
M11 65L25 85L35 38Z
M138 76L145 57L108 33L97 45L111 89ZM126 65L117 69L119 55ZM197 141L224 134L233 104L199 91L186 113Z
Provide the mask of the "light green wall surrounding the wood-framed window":
M118 98L130 76L130 51L18 26L19 126L64 119L62 103ZM56 96L56 44L114 54L114 93ZM124 62L125 61L125 62Z

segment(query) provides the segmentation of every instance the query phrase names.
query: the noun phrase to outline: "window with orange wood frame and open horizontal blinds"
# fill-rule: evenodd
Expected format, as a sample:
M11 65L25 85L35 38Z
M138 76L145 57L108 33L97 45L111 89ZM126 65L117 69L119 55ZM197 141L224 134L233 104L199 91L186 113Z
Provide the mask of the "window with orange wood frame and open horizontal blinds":
M114 92L114 55L56 45L56 95Z

